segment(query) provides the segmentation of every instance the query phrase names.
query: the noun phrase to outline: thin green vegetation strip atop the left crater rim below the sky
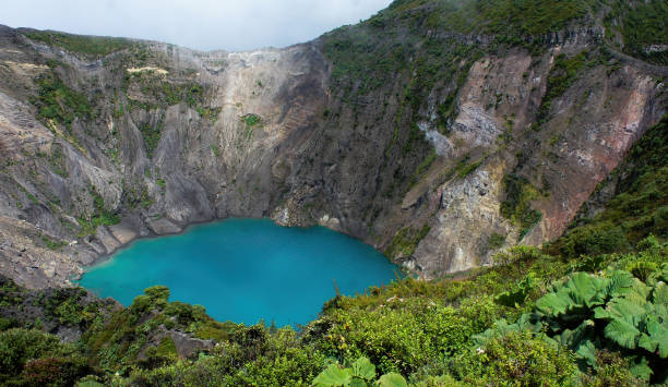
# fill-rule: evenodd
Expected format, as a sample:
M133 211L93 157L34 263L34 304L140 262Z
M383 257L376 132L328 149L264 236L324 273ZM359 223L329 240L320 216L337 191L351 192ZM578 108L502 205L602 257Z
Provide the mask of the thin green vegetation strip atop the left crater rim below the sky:
M132 46L132 43L124 38L72 35L51 31L31 31L24 35L33 40L57 46L73 53L94 57L107 56Z

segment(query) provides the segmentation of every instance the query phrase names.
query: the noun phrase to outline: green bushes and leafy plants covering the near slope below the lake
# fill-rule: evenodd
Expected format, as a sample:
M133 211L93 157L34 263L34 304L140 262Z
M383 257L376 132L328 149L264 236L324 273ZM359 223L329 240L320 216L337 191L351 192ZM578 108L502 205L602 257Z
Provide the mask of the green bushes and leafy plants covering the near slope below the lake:
M108 317L86 312L91 323L73 346L26 329L2 332L36 336L31 344L0 340L0 352L14 353L4 356L3 377L57 362L59 377L119 386L660 383L668 244L651 237L637 249L565 261L520 246L464 280L406 278L336 297L297 331L218 323L153 287ZM181 358L170 331L215 346Z

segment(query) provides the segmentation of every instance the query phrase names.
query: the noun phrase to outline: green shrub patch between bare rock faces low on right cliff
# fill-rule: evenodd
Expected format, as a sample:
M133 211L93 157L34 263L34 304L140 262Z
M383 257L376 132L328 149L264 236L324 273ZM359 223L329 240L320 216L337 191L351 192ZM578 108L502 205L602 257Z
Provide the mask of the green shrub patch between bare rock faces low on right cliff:
M503 178L505 199L501 202L501 215L521 227L518 240L542 218L542 214L532 208L530 202L539 197L539 192L528 180L514 174Z

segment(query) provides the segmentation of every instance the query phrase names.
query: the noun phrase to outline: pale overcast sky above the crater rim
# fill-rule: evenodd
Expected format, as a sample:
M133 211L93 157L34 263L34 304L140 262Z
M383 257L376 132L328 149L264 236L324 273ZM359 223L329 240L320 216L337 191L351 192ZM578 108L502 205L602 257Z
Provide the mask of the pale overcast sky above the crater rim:
M368 19L392 0L19 0L0 24L251 50L311 40Z

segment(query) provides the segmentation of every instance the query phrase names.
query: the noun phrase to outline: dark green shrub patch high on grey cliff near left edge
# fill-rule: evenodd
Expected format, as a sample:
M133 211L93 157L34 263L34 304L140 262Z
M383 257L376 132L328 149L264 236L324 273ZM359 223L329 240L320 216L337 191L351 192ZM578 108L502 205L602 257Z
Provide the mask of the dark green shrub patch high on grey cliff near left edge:
M38 95L29 101L37 107L37 117L47 128L51 128L49 121L53 120L71 130L74 118L93 118L93 108L86 96L68 87L56 73L39 75L35 84L39 88Z

